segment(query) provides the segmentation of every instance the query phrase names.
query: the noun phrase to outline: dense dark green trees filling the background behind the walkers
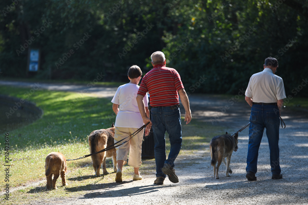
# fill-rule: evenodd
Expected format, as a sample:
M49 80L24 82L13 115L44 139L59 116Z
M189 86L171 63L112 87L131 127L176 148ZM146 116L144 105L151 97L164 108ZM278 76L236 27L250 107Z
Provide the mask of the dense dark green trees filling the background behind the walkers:
M12 3L13 2L13 3ZM189 93L246 89L276 57L287 95L307 96L308 0L13 0L0 3L0 77L26 74L40 48L37 78L126 79L151 69L162 50Z

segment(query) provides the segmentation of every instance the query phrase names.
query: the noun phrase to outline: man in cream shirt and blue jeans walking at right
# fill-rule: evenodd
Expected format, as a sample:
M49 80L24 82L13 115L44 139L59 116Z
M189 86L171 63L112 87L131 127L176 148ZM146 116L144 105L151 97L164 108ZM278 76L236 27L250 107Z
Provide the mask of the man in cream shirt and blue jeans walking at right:
M250 77L245 100L251 106L246 178L257 180L257 160L264 128L270 146L272 179L282 179L279 165L279 124L280 109L286 93L281 77L275 75L278 68L276 58L268 57L264 70Z

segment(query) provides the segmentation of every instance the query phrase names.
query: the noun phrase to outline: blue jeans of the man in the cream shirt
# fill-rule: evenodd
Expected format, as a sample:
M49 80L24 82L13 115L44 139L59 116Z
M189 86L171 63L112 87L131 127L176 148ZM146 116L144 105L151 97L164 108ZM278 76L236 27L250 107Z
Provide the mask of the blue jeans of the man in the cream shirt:
M279 109L277 105L257 105L251 108L249 125L249 142L247 153L247 171L257 172L259 147L261 144L264 128L270 147L270 166L272 174L279 175Z

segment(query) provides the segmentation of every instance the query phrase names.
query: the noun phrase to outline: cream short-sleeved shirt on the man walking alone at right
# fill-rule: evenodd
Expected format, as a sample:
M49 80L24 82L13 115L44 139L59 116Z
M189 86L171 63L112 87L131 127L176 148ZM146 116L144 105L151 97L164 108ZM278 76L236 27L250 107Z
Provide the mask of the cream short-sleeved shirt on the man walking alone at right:
M271 69L265 68L250 77L245 96L251 97L253 102L275 103L286 98L283 80Z

